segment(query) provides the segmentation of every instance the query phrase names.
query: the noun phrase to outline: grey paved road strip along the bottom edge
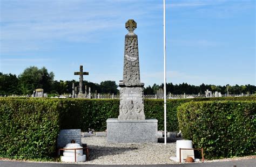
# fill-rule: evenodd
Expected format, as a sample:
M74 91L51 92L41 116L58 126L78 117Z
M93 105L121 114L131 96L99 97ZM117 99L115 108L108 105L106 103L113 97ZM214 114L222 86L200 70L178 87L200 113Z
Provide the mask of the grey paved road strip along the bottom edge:
M87 165L87 164L62 164L62 163L28 163L28 162L11 162L0 161L1 167L255 167L256 159L245 159L241 161L228 161L228 162L211 162L211 163L190 163L190 164L174 164L174 165Z

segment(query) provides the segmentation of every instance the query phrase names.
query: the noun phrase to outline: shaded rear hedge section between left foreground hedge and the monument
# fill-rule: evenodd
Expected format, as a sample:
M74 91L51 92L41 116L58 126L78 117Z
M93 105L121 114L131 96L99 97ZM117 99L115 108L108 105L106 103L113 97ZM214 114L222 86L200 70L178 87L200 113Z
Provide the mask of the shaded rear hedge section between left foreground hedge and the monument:
M119 115L117 99L60 99L60 128L106 130L107 118Z

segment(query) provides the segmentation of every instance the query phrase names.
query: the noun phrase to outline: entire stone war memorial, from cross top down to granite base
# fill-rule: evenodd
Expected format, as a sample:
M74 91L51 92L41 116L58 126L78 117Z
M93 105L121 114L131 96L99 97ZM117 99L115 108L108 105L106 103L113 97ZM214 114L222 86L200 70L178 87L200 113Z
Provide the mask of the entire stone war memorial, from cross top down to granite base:
M123 81L120 81L118 119L107 119L107 142L157 143L157 120L145 119L143 86L140 82L137 23L128 20L125 27Z

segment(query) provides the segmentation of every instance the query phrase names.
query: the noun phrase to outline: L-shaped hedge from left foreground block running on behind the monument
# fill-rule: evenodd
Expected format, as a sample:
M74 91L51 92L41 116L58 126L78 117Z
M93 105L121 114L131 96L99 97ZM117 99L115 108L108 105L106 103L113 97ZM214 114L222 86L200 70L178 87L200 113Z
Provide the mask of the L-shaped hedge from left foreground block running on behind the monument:
M178 130L177 107L189 101L256 100L256 97L167 100L167 130ZM146 118L158 119L164 129L164 101L144 101ZM106 119L117 118L117 99L0 98L0 157L49 159L55 157L59 129L106 129Z

